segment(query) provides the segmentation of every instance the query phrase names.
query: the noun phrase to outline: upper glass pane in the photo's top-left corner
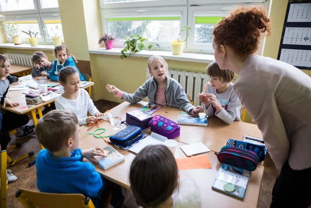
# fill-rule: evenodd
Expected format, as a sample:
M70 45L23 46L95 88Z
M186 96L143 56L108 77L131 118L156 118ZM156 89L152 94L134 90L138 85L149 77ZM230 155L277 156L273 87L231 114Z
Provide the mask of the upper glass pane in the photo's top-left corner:
M34 0L0 0L1 12L35 9Z

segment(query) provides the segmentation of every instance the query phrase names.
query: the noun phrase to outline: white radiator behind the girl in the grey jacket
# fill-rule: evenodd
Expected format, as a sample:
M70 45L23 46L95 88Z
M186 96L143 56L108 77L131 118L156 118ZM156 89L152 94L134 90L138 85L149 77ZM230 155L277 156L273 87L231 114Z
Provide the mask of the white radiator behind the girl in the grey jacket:
M201 105L197 95L204 90L204 86L208 81L207 74L198 72L187 72L180 70L169 69L168 73L173 79L176 79L180 85L184 88L186 94L190 95L193 100L193 105ZM146 68L146 78L149 79L151 76L149 74L148 67Z

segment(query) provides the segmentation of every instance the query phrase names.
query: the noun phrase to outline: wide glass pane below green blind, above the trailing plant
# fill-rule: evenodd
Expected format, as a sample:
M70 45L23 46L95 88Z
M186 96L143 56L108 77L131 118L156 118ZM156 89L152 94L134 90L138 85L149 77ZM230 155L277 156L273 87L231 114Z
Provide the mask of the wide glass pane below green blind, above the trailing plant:
M179 20L107 21L108 33L117 39L141 35L149 41L171 41L178 38Z

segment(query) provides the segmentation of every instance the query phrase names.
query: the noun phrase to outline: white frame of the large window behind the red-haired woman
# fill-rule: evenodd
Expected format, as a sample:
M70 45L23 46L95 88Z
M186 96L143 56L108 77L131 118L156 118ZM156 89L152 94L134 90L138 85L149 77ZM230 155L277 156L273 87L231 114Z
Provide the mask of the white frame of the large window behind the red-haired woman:
M262 5L265 8L269 7L269 0L138 0L130 2L112 2L104 3L105 0L100 0L100 14L102 30L104 33L109 33L106 27L106 18L109 15L114 17L120 17L129 15L139 16L144 11L149 16L154 14L159 16L163 12L169 13L174 9L179 8L183 12L181 13L180 29L184 25L189 25L192 30L190 36L184 44L184 52L191 53L206 53L214 54L212 44L209 43L195 43L195 17L196 16L226 16L230 10L238 5L253 6ZM139 12L140 11L140 12ZM183 34L185 36L186 34ZM148 37L145 37L148 38ZM184 37L182 37L184 38ZM124 40L116 40L115 47L123 47ZM147 41L145 45L158 44L160 47L157 50L170 51L170 42L153 42ZM152 48L153 49L153 48Z

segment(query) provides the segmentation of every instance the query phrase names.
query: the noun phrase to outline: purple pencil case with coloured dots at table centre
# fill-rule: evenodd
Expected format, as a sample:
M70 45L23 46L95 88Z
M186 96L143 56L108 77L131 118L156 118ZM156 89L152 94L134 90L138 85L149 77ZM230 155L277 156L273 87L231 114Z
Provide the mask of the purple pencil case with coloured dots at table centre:
M161 115L155 115L149 121L149 126L152 132L165 136L168 139L176 138L180 134L180 127L174 121Z

